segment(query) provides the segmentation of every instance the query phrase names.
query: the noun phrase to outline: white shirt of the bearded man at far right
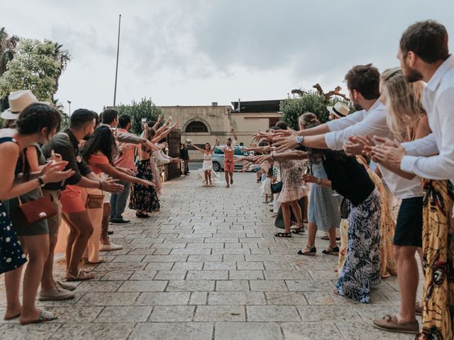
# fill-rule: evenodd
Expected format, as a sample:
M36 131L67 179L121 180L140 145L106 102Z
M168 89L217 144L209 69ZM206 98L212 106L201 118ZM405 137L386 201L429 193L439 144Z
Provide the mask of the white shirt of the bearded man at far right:
M454 183L453 55L438 67L428 81L423 90L423 106L432 133L421 140L403 143L407 155L400 167L425 179L450 179Z

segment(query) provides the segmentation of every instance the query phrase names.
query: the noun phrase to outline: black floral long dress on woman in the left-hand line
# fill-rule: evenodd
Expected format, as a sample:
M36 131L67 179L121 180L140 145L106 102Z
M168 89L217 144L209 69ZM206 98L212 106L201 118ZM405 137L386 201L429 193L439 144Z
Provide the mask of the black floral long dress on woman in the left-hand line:
M153 169L150 164L150 159L138 161L135 163L137 168L136 175L139 179L153 181ZM131 197L129 208L139 210L141 212L155 212L159 210L160 203L157 198L156 189L153 186L143 186L138 183L133 183L131 186Z

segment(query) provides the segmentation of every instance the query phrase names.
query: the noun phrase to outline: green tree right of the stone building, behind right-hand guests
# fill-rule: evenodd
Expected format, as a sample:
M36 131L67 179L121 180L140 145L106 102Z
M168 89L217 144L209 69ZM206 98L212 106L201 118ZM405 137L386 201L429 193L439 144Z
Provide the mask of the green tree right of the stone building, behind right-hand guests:
M339 97L332 97L326 101L326 98L318 92L308 91L302 96L289 96L289 98L282 101L280 106L281 119L286 121L292 128L298 129L299 116L303 113L311 112L319 118L321 123L326 123L329 117L326 106L333 106L338 101L343 101L343 103L350 106L350 113L355 111L351 103Z

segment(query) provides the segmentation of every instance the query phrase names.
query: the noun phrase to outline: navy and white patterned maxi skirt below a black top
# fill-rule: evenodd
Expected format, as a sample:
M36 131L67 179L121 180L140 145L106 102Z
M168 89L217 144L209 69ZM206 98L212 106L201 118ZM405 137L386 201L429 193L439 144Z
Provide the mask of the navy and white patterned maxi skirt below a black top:
M380 283L380 197L377 190L357 206L350 203L348 252L339 274L339 295L370 301L370 287Z

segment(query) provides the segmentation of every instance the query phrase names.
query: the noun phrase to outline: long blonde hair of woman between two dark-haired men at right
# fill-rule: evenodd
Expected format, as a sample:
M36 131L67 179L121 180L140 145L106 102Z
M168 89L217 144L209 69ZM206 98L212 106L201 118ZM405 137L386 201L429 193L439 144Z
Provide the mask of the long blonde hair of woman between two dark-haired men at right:
M387 107L387 125L399 141L412 140L415 123L426 114L421 103L423 83L409 83L402 69L387 69L380 77L380 92Z

